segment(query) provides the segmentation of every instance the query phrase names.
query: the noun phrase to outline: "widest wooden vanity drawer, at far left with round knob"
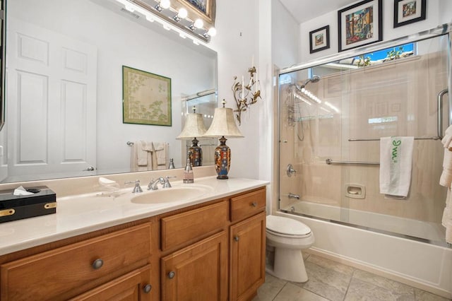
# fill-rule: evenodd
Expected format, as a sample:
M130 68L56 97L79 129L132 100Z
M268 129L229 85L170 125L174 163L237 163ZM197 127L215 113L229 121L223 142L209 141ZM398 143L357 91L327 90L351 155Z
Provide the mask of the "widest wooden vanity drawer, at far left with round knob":
M112 232L0 266L1 300L61 300L111 280L150 256L150 224ZM99 264L95 268L95 263ZM131 271L129 269L129 271ZM117 273L116 273L117 274Z

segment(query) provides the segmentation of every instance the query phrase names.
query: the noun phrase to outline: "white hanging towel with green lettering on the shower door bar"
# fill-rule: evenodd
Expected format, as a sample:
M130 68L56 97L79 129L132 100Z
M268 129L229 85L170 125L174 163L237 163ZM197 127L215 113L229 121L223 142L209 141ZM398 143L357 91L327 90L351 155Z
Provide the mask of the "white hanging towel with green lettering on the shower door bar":
M380 138L380 193L408 196L414 137Z

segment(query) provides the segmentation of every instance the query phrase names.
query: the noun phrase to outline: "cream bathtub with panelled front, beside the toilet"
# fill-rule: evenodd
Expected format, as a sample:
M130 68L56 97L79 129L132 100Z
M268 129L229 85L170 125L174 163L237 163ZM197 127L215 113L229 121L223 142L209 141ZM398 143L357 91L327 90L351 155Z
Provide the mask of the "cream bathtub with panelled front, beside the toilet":
M296 212L307 216L290 213L292 206ZM288 212L277 211L274 214L300 220L316 235L314 246L307 252L452 298L452 249L434 243L442 240L444 244L442 226L404 218L403 221L391 220L391 216L341 210L306 201L298 201L282 209ZM316 210L316 216L321 212L321 219L309 217L314 216L310 214L313 210ZM341 215L343 220L348 218L347 223L359 222L364 227L380 230L350 227L330 221L341 220ZM400 224L404 225L403 229L400 229ZM394 226L409 236L390 235L390 232L396 231ZM414 237L420 237L420 240Z

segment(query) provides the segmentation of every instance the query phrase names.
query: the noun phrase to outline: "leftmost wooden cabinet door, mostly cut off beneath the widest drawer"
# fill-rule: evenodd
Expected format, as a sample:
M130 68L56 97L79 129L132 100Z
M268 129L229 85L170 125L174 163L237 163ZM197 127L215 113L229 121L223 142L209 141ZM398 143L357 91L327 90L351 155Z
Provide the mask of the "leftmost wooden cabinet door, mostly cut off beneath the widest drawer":
M150 265L147 265L79 295L71 301L150 301L151 290Z

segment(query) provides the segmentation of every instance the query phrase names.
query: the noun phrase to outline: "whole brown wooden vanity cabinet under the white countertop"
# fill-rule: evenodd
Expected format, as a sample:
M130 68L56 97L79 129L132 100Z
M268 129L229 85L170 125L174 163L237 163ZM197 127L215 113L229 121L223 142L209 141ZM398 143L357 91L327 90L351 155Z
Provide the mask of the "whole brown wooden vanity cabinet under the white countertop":
M251 300L266 188L0 256L0 300Z

